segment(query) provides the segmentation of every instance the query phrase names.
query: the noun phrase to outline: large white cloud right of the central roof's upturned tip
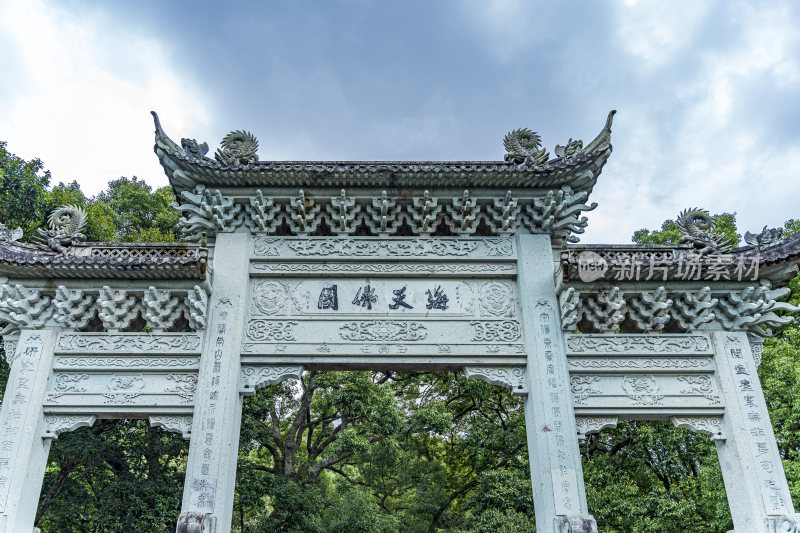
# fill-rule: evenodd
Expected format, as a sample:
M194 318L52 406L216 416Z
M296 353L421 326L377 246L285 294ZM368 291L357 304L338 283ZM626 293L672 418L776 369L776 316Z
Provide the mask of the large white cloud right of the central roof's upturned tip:
M736 211L742 231L800 216L800 137L776 142L773 133L781 110L798 110L796 16L780 3L731 3L713 16L729 24L728 46L685 43L700 68L618 117L617 150L593 196L600 207L587 242L627 240L691 206Z

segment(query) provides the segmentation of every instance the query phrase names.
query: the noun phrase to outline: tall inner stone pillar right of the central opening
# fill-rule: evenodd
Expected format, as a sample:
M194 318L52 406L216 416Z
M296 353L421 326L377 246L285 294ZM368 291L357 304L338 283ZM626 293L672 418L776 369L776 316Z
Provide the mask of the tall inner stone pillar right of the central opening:
M536 531L597 531L586 506L567 355L548 235L519 235L518 280L527 353L525 423Z

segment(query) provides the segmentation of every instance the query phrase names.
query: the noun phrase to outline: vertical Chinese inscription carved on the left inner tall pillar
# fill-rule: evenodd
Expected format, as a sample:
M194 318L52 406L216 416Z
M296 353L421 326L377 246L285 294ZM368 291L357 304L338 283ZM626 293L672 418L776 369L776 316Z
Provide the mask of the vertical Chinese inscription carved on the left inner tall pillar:
M203 454L199 458L200 475L192 478L192 503L198 509L214 510L214 501L217 490L217 470L219 468L219 440L221 436L215 431L217 425L217 403L222 395L222 373L230 372L225 366L225 353L230 343L230 313L233 305L229 298L222 298L214 307L211 322L211 335L206 347L206 356L211 357L202 365L201 379L204 380L202 394L203 408L200 414L198 431L195 438L202 442ZM238 371L238 369L237 369Z

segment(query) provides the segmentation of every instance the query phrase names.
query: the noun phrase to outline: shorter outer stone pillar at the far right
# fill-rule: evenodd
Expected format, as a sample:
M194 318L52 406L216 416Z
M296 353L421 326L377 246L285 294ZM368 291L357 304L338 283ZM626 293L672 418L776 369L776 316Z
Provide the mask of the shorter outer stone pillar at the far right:
M725 399L725 441L716 441L735 531L774 533L794 513L789 485L756 362L744 332L714 331L714 359Z

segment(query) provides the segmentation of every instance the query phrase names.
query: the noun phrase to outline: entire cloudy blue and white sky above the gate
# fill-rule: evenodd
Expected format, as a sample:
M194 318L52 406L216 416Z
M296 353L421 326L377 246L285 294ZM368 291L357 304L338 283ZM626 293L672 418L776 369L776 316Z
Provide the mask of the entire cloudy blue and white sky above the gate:
M690 206L754 231L800 218L798 28L777 0L0 0L0 140L96 193L166 184L151 109L265 160L497 160L617 109L584 242Z

